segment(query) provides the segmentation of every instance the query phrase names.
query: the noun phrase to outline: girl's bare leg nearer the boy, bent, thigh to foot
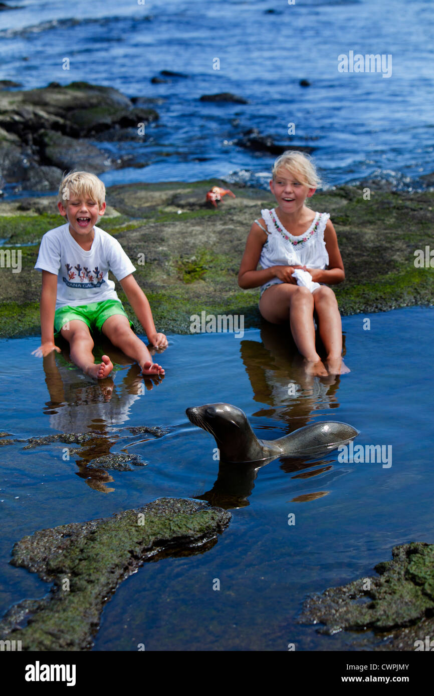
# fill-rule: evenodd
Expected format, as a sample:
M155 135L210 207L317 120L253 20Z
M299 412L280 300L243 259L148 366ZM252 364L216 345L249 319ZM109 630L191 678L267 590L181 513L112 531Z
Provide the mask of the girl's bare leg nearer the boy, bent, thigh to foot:
M272 285L261 297L259 308L264 319L272 324L282 324L289 319L295 345L304 357L307 372L327 375L315 348L313 296L307 287L292 283Z

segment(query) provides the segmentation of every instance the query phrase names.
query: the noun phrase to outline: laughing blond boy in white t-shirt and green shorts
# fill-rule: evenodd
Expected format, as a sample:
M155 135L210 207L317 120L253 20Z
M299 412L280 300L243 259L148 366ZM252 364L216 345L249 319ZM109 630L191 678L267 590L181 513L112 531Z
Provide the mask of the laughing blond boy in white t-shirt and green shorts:
M113 363L107 355L102 363L94 362L91 330L97 329L134 358L143 374L164 375L132 331L114 283L108 279L111 270L150 343L166 348L166 336L157 333L148 299L132 276L132 262L114 237L95 227L106 207L104 184L93 174L70 172L63 177L59 199L59 212L67 222L42 237L35 266L42 271L41 345L33 354L45 357L53 350L59 352L54 335L61 333L70 344L72 361L90 377L103 379Z

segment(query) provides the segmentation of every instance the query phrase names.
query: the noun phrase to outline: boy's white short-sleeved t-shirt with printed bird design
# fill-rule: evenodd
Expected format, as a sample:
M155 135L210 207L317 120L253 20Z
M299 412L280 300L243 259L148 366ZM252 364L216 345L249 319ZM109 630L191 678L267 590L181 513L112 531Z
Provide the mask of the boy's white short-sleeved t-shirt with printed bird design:
M96 226L93 230L90 251L75 241L69 223L42 237L35 268L57 276L56 309L118 300L109 271L122 280L136 270L117 239Z

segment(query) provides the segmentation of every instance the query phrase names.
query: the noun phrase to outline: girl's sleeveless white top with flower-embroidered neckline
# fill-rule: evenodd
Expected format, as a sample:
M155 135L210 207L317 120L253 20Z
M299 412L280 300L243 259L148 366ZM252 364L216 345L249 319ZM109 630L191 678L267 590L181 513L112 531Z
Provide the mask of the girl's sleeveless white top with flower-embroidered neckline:
M297 236L291 235L284 228L274 208L261 210L261 215L267 227L265 232L268 235L259 258L259 263L263 269L271 266L299 265L325 269L328 266L329 255L325 248L324 230L330 214L316 212L311 226L304 232L304 235ZM261 286L261 296L268 287L277 283L283 283L283 280L279 280L279 278L268 280Z

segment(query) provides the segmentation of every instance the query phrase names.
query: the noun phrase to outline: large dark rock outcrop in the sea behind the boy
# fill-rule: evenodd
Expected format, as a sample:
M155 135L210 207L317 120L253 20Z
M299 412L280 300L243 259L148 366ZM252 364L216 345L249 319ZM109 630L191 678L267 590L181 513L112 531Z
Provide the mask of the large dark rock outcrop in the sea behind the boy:
M44 191L54 173L40 175L41 165L95 173L123 166L121 160L111 162L86 138L115 128L137 129L139 123L158 118L155 109L133 104L116 89L86 82L0 90L0 177Z

